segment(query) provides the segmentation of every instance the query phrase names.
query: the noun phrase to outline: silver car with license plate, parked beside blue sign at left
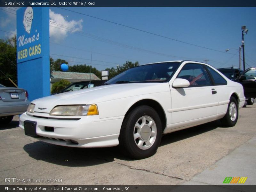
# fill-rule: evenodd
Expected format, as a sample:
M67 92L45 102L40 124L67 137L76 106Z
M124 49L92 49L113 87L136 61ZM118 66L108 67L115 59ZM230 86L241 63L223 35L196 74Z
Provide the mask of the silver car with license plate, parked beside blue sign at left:
M12 121L14 115L24 113L29 103L25 89L0 84L0 124L7 124Z

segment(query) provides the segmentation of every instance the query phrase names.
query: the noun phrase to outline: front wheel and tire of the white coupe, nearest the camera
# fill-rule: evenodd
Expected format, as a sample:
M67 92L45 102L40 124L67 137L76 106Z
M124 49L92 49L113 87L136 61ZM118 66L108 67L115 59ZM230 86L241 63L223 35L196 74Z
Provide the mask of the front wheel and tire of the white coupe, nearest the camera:
M143 159L156 153L161 142L162 124L155 109L142 105L125 118L119 135L122 152L134 159Z

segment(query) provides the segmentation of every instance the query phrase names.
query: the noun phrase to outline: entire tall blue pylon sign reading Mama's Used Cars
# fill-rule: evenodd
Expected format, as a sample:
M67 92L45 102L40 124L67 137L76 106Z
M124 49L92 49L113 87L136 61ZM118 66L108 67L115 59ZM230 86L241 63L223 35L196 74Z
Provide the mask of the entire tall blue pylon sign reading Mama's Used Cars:
M50 95L49 7L17 10L17 68L31 101Z

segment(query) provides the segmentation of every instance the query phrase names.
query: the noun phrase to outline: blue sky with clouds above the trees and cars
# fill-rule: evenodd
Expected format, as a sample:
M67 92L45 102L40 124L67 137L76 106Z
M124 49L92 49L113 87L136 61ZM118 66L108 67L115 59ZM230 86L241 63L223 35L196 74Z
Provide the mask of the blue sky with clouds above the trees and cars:
M90 65L92 49L92 67L99 70L116 68L116 65L123 65L126 60L139 61L142 65L168 60L204 62L206 59L215 68L232 65L238 67L239 55L235 49L241 45L241 26L245 25L249 29L244 36L245 68L256 66L255 7L65 8L222 52L184 44L57 7L50 9L51 22L55 23L50 24L50 55L54 59L67 60L70 65ZM15 10L0 9L0 29L9 32L0 31L1 38L16 33ZM75 30L71 31L70 28ZM235 49L225 52L229 48Z

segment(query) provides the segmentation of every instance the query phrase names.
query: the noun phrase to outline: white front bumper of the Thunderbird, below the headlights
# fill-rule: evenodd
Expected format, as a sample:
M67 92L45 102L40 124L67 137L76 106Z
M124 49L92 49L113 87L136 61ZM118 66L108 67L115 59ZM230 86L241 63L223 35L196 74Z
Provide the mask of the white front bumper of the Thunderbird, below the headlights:
M20 116L19 126L24 129L25 120L36 122L36 134L39 136L36 139L47 143L84 148L112 147L119 143L118 137L123 119L124 116L100 119L95 115L72 119L42 113L23 113Z

